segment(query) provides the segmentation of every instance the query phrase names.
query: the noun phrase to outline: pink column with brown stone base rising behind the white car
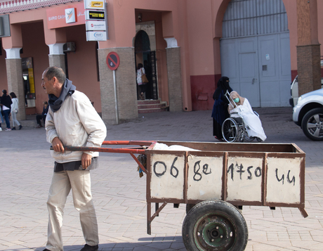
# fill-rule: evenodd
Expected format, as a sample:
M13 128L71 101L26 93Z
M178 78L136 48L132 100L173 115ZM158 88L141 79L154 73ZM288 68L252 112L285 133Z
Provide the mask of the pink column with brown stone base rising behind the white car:
M297 0L298 96L321 88L317 0Z

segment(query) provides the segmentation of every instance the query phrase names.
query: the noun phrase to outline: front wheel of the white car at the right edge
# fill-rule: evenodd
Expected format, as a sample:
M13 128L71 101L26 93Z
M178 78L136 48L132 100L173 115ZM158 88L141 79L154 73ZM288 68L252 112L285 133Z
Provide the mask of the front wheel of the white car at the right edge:
M323 108L309 110L302 120L305 136L312 141L323 141Z

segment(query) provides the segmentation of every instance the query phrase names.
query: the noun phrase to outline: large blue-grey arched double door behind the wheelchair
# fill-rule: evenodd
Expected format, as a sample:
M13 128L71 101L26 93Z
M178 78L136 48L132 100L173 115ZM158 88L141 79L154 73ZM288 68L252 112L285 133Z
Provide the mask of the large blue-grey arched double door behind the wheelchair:
M223 17L221 72L253 107L289 106L291 56L282 0L231 0Z

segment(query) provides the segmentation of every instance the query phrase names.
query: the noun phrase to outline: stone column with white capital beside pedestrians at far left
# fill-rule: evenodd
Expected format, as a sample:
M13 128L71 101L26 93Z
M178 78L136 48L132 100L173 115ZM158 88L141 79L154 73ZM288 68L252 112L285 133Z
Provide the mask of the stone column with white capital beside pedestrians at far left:
M18 98L17 120L26 120L25 112L25 90L22 79L22 67L20 58L21 48L6 50L6 72L8 79L8 95L14 92Z

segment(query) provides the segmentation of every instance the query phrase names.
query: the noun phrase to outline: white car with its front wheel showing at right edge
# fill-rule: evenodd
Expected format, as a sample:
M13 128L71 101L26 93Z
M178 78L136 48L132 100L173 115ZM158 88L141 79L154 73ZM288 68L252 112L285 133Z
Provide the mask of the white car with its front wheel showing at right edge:
M313 141L323 140L323 89L310 91L298 98L293 120Z

